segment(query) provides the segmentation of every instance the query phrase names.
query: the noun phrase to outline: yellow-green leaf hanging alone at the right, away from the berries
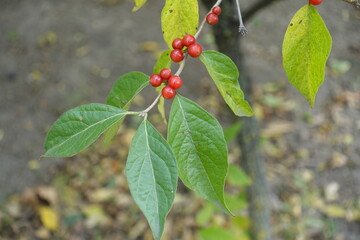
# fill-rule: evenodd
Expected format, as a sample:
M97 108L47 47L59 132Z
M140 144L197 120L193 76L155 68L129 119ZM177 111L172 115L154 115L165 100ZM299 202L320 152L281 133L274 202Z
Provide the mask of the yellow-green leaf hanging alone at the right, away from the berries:
M331 51L331 35L311 4L302 7L290 21L282 47L286 75L313 107L324 81Z

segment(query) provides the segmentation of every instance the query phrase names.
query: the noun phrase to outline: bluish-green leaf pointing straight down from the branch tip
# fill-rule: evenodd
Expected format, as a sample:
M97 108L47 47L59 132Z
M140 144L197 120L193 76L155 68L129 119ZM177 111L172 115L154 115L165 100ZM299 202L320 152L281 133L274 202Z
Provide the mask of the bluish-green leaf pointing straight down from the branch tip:
M131 195L160 239L177 187L177 166L165 139L147 121L137 130L126 163Z

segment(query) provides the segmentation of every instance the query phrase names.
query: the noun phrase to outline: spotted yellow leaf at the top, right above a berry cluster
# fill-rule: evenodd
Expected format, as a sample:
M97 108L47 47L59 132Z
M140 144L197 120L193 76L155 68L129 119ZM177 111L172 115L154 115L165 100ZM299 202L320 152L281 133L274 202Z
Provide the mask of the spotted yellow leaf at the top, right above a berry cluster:
M194 35L199 23L197 0L166 0L161 12L161 28L169 48L175 38Z

